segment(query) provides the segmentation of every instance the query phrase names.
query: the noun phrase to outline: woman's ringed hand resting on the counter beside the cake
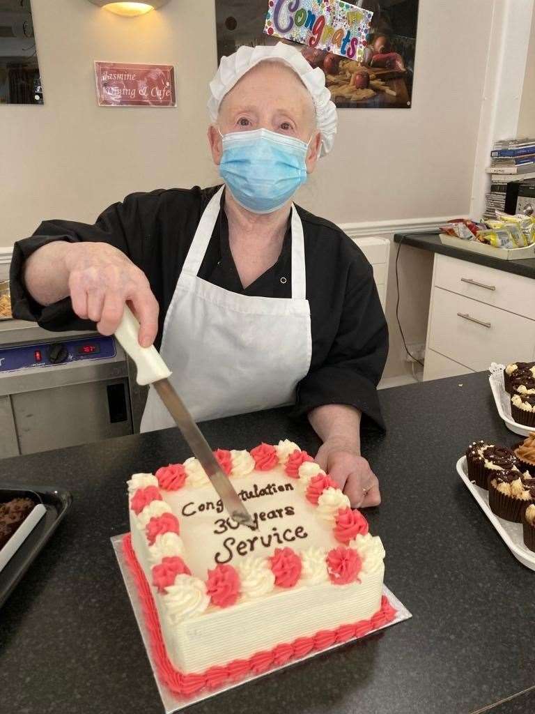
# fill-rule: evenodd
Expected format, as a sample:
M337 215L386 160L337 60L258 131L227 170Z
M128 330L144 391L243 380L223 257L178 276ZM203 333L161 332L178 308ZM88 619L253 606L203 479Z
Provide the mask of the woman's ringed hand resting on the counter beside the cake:
M340 486L352 508L379 506L379 481L360 453L342 443L325 441L315 461Z

